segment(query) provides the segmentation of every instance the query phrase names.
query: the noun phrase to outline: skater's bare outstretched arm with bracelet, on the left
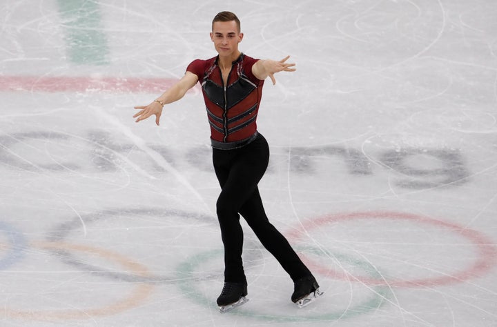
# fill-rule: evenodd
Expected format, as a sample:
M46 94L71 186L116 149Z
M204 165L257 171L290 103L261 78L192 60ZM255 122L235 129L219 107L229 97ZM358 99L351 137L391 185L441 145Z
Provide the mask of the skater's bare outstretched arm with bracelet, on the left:
M136 106L135 109L138 109L139 112L137 112L133 118L136 118L136 122L138 122L147 119L151 115L155 115L155 123L158 126L164 105L178 101L184 97L186 92L193 88L197 81L197 75L193 74L193 72L186 72L182 79L171 86L169 90L162 93L160 97L155 99L148 106Z

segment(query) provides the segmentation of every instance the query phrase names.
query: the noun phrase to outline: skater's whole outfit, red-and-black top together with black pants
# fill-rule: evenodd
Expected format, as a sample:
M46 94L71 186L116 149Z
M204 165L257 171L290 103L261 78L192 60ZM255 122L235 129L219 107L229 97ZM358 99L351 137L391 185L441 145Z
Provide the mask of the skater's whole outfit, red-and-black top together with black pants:
M216 210L224 244L224 281L246 286L239 214L293 281L310 276L289 242L269 222L257 188L269 163L269 146L256 124L264 84L252 73L257 59L241 54L232 63L227 85L217 60L197 59L186 70L197 75L202 85L211 125L214 170L222 188Z

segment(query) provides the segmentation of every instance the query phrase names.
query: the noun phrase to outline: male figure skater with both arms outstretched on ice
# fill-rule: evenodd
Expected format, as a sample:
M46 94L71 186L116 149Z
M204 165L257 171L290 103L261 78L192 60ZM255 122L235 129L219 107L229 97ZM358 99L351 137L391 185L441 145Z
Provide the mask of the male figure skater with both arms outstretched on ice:
M257 184L269 162L269 146L257 132L257 111L266 77L276 83L276 72L293 72L295 63L258 60L238 50L244 34L232 12L220 12L212 23L211 40L217 57L197 59L174 86L148 106L137 106L136 121L155 115L159 125L167 103L184 97L199 82L211 126L213 164L222 188L217 199L217 218L224 244L224 288L217 304L222 312L246 301L247 281L242 263L243 231L240 215L262 245L289 273L294 282L291 300L304 306L321 295L318 283L284 236L269 222Z

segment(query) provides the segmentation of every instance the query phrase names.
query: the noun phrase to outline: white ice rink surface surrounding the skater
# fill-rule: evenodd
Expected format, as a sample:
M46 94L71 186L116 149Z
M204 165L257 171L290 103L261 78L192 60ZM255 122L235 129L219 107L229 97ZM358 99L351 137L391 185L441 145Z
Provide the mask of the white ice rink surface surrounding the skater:
M325 295L246 228L220 314L219 186L199 88L135 123L217 12L297 63L258 127L270 220ZM494 0L2 0L0 326L497 326Z

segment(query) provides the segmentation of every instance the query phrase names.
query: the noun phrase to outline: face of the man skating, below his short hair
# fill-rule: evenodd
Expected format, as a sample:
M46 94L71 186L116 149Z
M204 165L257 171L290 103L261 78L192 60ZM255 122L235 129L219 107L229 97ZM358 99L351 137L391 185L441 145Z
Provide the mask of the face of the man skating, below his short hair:
M222 57L237 55L238 43L243 39L243 33L238 32L235 21L215 21L211 39L217 53Z

